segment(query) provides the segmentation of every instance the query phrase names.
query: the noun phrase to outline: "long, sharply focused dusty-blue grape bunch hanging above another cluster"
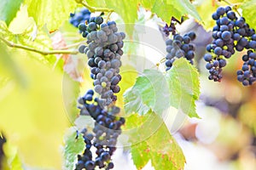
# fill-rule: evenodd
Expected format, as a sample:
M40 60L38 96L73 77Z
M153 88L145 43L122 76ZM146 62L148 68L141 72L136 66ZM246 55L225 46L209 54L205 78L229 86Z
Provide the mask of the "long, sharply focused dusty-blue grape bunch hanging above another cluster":
M124 32L118 32L114 21L103 23L101 16L91 17L89 24L80 24L82 36L87 38L87 44L79 46L79 52L86 54L90 66L90 77L94 79L94 90L101 95L98 103L102 106L116 101L114 94L119 93L119 67L123 54Z

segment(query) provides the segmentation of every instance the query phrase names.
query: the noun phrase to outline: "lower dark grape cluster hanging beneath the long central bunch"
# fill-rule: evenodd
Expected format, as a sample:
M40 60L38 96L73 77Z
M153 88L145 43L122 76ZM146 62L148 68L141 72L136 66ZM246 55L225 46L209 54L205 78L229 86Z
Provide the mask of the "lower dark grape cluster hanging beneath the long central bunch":
M93 170L96 167L112 169L111 156L116 150L116 143L121 126L125 124L125 118L118 118L119 107L112 106L110 111L105 111L98 105L98 99L93 99L94 91L89 90L84 97L79 99L80 115L90 115L96 122L93 132L89 133L86 128L82 130L85 143L83 155L78 156L75 170ZM91 147L96 148L96 158L93 159Z

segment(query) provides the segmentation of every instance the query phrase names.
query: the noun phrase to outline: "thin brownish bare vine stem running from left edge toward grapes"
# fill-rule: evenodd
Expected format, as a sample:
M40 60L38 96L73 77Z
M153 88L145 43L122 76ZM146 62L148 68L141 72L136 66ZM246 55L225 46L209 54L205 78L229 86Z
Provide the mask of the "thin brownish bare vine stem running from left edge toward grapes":
M44 51L44 50L39 50L36 48L31 48L27 47L24 45L17 44L15 42L9 42L8 40L4 39L3 37L0 37L0 40L6 43L10 48L20 48L20 49L25 49L27 51L32 51L38 54L42 55L49 55L49 54L79 54L79 51L77 50L49 50L49 51Z

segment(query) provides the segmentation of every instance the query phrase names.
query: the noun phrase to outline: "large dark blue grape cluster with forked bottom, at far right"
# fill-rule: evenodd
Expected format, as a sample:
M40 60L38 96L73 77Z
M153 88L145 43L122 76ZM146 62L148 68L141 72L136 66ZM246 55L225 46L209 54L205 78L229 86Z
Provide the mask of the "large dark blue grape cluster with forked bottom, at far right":
M210 73L208 78L214 82L220 82L222 78L221 72L226 65L226 59L230 59L236 51L240 52L245 48L255 50L256 35L255 31L250 28L243 17L236 17L236 13L232 11L230 6L217 8L217 11L212 14L212 19L216 20L216 26L212 29L213 41L207 45L207 51L210 54L205 54L204 59L208 62L206 65ZM252 51L248 52L251 53ZM237 72L237 79L243 85L252 84L255 77L253 71L250 70L250 66L248 66L247 60L252 58L243 58L245 63L242 71ZM250 64L252 62L253 59ZM253 67L253 65L251 66ZM249 70L250 74L248 74ZM241 74L243 75L241 76Z

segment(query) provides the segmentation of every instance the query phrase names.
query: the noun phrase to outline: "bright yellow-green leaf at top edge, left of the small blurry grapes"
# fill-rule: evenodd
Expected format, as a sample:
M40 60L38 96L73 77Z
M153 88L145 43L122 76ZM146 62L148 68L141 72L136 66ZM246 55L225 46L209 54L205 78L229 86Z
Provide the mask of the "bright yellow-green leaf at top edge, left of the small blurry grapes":
M74 11L74 0L25 0L28 14L33 17L39 27L46 25L49 31L58 29L69 14Z

